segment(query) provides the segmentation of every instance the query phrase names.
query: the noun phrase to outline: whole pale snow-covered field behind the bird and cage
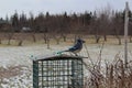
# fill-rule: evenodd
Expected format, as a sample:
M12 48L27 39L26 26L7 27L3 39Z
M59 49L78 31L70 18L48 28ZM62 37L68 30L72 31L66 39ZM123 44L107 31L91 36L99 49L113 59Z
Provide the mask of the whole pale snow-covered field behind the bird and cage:
M70 45L0 46L0 88L33 88L31 56L50 55L66 50ZM99 58L102 44L87 44L87 51L94 62ZM123 45L105 44L101 51L102 62L112 62L117 55L123 58ZM129 44L129 59L132 61L132 44ZM87 56L86 47L80 55ZM85 61L89 61L86 58Z

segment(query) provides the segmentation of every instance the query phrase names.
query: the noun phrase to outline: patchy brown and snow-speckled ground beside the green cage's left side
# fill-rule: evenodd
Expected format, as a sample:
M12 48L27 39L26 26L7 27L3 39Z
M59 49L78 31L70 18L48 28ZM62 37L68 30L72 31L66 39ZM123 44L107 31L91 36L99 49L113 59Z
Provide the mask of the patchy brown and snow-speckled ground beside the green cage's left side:
M0 67L0 88L32 88L31 72L24 65Z

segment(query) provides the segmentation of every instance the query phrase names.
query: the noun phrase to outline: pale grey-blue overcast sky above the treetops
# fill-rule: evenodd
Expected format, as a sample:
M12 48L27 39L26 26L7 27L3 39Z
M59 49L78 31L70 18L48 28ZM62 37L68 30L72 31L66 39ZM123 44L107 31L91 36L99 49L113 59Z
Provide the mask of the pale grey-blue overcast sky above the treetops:
M107 4L114 10L123 10L125 1L132 10L132 0L0 0L0 16L11 15L15 11L26 14L33 12L63 13L95 11L105 8Z

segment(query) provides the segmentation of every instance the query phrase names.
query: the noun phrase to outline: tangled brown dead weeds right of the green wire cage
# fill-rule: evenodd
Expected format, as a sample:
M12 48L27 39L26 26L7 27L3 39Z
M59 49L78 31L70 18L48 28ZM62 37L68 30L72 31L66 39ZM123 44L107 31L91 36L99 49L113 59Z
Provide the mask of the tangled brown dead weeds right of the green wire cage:
M84 88L131 88L132 87L132 62L124 67L122 59L114 59L112 64L106 63L103 69L100 64L88 66L86 68L90 73L85 78Z

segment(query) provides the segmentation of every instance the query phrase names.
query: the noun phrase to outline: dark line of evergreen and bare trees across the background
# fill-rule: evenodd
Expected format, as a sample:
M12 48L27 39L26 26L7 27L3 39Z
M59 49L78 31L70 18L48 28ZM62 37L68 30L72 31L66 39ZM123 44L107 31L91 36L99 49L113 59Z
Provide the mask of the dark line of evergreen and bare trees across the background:
M129 18L132 16L132 12L129 11ZM86 34L95 35L96 42L98 43L100 37L107 41L107 35L114 35L121 42L123 35L124 25L124 11L113 11L105 9L100 11L84 13L72 13L67 14L50 14L46 12L38 13L34 16L31 12L30 16L16 11L11 16L0 19L0 32L6 33L44 33L46 34L62 35L65 37L66 34ZM132 35L132 22L129 22L129 35ZM11 34L10 34L11 35ZM11 36L10 36L11 37ZM34 35L33 35L34 37ZM35 38L34 38L35 41Z

